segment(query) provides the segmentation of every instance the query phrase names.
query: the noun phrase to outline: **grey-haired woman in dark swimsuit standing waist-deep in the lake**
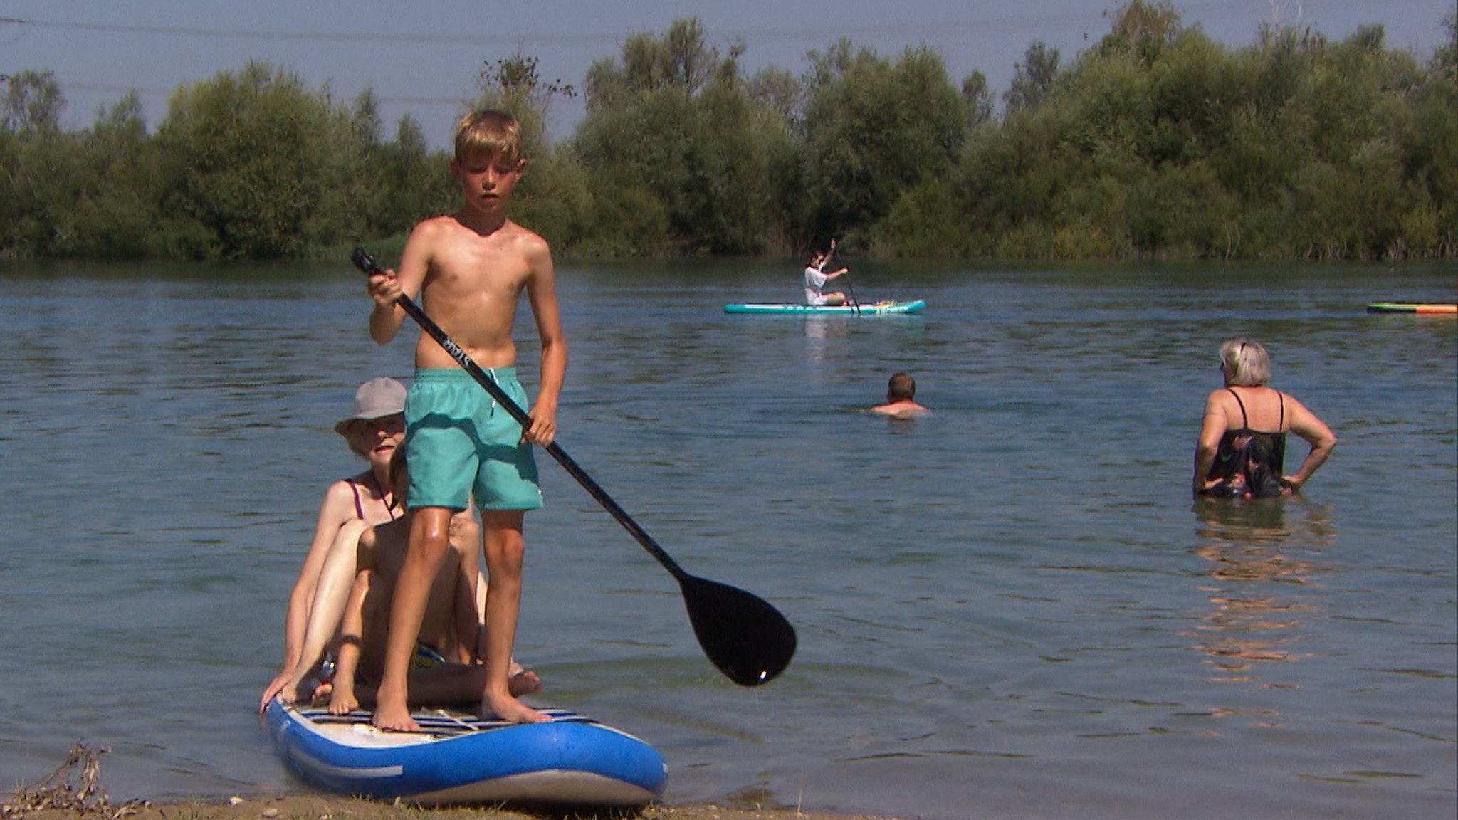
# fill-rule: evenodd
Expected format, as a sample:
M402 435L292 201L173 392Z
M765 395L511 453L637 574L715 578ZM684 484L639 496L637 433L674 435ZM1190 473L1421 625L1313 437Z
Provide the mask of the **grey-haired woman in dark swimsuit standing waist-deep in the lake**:
M1194 449L1196 495L1268 498L1302 487L1337 446L1337 436L1301 401L1266 385L1271 366L1254 339L1220 346L1225 388L1206 398L1204 423ZM1311 444L1301 468L1283 474L1286 433Z

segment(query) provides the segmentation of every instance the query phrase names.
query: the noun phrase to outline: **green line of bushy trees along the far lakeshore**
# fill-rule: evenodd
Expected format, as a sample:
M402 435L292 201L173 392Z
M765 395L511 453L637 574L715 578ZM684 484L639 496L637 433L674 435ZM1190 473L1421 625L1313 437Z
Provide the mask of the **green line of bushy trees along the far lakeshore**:
M1343 41L1263 26L1245 47L1127 0L1064 61L1032 42L1010 88L954 82L926 47L849 39L795 74L741 69L695 19L627 38L580 89L521 53L477 107L531 158L513 216L564 257L1458 255L1458 13L1429 57L1378 25ZM585 115L547 139L551 105ZM63 130L48 71L4 77L0 258L299 258L401 241L458 191L411 117L264 63L179 86L149 131L136 93Z

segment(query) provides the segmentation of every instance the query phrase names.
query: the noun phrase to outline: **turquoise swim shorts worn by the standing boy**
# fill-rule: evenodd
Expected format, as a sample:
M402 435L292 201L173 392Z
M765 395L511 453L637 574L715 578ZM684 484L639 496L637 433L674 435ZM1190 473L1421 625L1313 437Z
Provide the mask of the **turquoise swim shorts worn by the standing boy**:
M516 368L487 374L512 401L526 407ZM478 509L542 505L537 460L532 445L522 441L522 426L465 371L416 371L405 394L405 458L410 464L405 505L411 509L465 509L472 495Z

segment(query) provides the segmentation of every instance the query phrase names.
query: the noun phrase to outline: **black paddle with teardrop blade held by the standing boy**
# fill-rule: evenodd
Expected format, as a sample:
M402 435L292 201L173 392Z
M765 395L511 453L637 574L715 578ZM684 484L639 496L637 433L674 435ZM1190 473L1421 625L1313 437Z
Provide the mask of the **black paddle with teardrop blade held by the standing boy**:
M356 248L350 254L350 261L366 274L385 273L364 248ZM416 320L420 330L439 341L440 347L445 347L446 353L451 353L451 357L465 372L471 374L471 378L484 387L491 394L491 398L504 407L523 429L531 426L532 419L526 414L526 410L522 410L512 401L497 387L496 381L471 360L471 356L465 350L461 350L455 341L451 341L451 337L420 309L420 305L414 299L401 295L397 303L405 309L410 318ZM684 592L684 606L688 608L688 623L694 627L694 636L698 638L698 645L703 646L704 655L719 667L719 671L725 677L739 686L760 686L761 683L768 683L774 676L784 671L784 667L790 665L790 658L795 655L795 627L790 626L790 622L784 620L784 616L779 610L744 589L684 572L663 552L663 547L658 546L658 541L639 527L618 506L618 502L612 500L557 442L551 442L545 449L582 484L582 489L588 490L588 495L598 499L598 503L611 512L612 518L617 518L618 524L631 533L637 538L637 543L643 544L643 549L678 581L678 587Z

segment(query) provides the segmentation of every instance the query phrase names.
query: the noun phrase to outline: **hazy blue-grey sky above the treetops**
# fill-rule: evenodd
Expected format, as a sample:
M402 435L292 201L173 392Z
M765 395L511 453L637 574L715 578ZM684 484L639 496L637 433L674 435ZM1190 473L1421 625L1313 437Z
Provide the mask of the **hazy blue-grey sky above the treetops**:
M1458 0L1175 0L1187 28L1242 47L1263 22L1343 39L1381 23L1388 48L1426 60L1446 38ZM434 147L475 96L481 70L515 53L538 74L580 89L593 61L617 57L634 34L662 35L697 18L709 45L745 47L746 74L774 66L795 74L806 53L840 38L894 58L927 45L956 85L974 70L1000 98L1028 45L1044 41L1063 64L1108 32L1118 0L0 0L0 74L50 70L85 128L102 107L136 90L149 128L181 85L262 60L313 90L348 102L366 88L381 101L382 137L410 114ZM582 115L580 96L558 101L554 137Z

